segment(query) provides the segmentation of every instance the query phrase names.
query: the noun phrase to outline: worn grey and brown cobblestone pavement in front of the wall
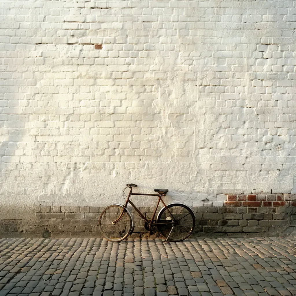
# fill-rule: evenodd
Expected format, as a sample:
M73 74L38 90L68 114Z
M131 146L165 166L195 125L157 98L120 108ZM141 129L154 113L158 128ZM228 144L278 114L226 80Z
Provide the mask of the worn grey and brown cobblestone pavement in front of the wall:
M0 295L296 295L296 238L0 239Z

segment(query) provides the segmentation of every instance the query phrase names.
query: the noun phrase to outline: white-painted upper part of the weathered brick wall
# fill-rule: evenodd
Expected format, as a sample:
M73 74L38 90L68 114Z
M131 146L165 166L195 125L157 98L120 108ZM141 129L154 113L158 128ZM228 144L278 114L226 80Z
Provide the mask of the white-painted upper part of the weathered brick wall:
M2 205L295 192L296 1L0 6Z

